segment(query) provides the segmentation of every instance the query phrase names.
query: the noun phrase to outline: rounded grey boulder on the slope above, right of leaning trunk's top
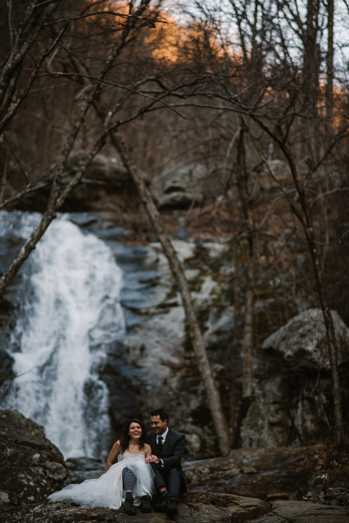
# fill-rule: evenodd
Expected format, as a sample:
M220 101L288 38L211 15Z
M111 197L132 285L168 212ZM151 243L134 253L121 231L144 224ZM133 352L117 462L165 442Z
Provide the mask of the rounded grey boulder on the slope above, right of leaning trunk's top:
M202 203L207 168L201 164L176 165L155 176L150 185L157 207L186 209Z

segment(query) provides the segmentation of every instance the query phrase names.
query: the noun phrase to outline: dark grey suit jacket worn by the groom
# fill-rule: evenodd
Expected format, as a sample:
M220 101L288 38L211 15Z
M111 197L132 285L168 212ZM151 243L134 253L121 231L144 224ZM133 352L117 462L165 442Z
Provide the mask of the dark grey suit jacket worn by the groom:
M152 454L157 456L156 434L154 430L147 434L146 442L151 446ZM164 471L170 472L171 469L176 469L181 473L186 484L187 476L184 474L181 460L184 453L185 435L168 428L168 433L162 448L161 459L164 462Z

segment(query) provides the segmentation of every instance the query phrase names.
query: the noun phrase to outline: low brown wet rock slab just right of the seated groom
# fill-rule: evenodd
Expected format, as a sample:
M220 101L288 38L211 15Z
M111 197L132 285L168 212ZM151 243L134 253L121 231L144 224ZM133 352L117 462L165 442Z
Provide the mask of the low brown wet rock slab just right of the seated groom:
M228 458L207 460L186 468L188 490L223 492L264 501L288 499L307 483L307 477L297 470L297 459L322 448L316 445L231 450Z

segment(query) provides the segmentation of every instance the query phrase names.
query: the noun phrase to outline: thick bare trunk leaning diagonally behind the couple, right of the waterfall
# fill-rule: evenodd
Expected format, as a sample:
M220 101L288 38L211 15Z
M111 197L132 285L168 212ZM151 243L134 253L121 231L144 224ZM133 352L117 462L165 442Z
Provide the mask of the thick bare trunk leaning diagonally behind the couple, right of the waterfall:
M223 456L229 453L229 434L226 419L224 418L222 404L219 396L219 392L213 379L210 364L207 357L204 340L202 339L200 327L196 318L195 308L190 294L188 282L185 278L183 267L178 259L178 256L173 248L170 237L164 232L161 216L157 208L155 207L153 198L148 187L145 185L142 176L139 174L137 167L131 162L128 152L126 150L125 143L123 142L120 135L111 132L110 133L111 143L116 147L119 152L122 162L128 170L131 178L136 184L139 195L142 199L143 205L153 228L156 232L157 237L163 247L164 253L170 263L173 275L175 277L179 292L182 295L183 306L186 315L186 321L189 329L189 335L192 340L193 349L197 359L199 371L201 374L202 381L204 382L207 401L211 412L213 424L216 429L216 434L219 441L219 448Z

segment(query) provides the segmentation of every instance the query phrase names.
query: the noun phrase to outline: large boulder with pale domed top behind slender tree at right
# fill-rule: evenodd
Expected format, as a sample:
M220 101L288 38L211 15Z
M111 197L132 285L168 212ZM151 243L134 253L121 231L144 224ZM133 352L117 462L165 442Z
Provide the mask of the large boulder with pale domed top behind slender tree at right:
M349 329L332 311L343 383L349 366ZM262 345L263 372L256 376L241 425L243 447L314 445L329 434L333 395L326 331L320 309L292 318Z

